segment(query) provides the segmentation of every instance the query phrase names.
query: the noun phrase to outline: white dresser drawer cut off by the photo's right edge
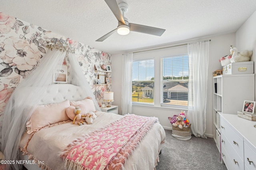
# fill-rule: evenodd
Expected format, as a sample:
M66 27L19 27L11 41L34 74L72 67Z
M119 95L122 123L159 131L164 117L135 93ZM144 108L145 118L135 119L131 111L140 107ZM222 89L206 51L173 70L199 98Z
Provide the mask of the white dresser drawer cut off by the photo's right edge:
M244 164L249 170L256 170L256 153L249 145L244 142Z

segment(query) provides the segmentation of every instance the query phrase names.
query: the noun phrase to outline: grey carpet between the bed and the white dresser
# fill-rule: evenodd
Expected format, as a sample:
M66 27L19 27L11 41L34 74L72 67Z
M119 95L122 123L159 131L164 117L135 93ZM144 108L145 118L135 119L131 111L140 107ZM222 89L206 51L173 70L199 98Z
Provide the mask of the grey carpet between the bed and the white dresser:
M166 140L156 170L227 170L213 138L192 135L190 140L179 140L172 136L172 130L165 132Z

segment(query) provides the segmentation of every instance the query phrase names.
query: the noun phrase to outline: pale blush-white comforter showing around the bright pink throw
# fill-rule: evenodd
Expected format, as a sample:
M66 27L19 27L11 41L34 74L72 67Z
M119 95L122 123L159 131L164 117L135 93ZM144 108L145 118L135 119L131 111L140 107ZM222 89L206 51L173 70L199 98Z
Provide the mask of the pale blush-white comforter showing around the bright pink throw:
M72 122L42 129L34 134L28 143L27 151L36 160L44 161L53 170L63 170L64 160L60 158L60 152L68 144L79 138L82 134L90 134L94 130L120 119L122 115L97 112L98 116L92 125L72 125ZM25 133L20 142L23 148L28 141L29 134ZM165 139L164 128L156 123L141 141L140 146L134 150L132 156L124 164L124 170L153 170L161 150L161 142Z

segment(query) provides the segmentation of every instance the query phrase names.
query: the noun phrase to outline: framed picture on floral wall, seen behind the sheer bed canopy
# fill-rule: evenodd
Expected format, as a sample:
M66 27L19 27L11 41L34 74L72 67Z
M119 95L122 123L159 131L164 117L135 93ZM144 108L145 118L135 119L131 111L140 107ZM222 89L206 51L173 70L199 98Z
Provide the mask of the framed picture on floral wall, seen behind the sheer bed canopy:
M68 83L68 66L62 65L61 69L54 69L53 82Z

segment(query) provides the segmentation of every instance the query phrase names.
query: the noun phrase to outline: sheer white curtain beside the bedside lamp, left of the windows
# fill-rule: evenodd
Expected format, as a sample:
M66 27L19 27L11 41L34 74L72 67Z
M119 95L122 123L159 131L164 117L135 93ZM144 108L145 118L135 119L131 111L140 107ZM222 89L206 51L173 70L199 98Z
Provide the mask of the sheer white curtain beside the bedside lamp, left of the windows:
M132 61L133 53L123 54L122 115L132 113Z

